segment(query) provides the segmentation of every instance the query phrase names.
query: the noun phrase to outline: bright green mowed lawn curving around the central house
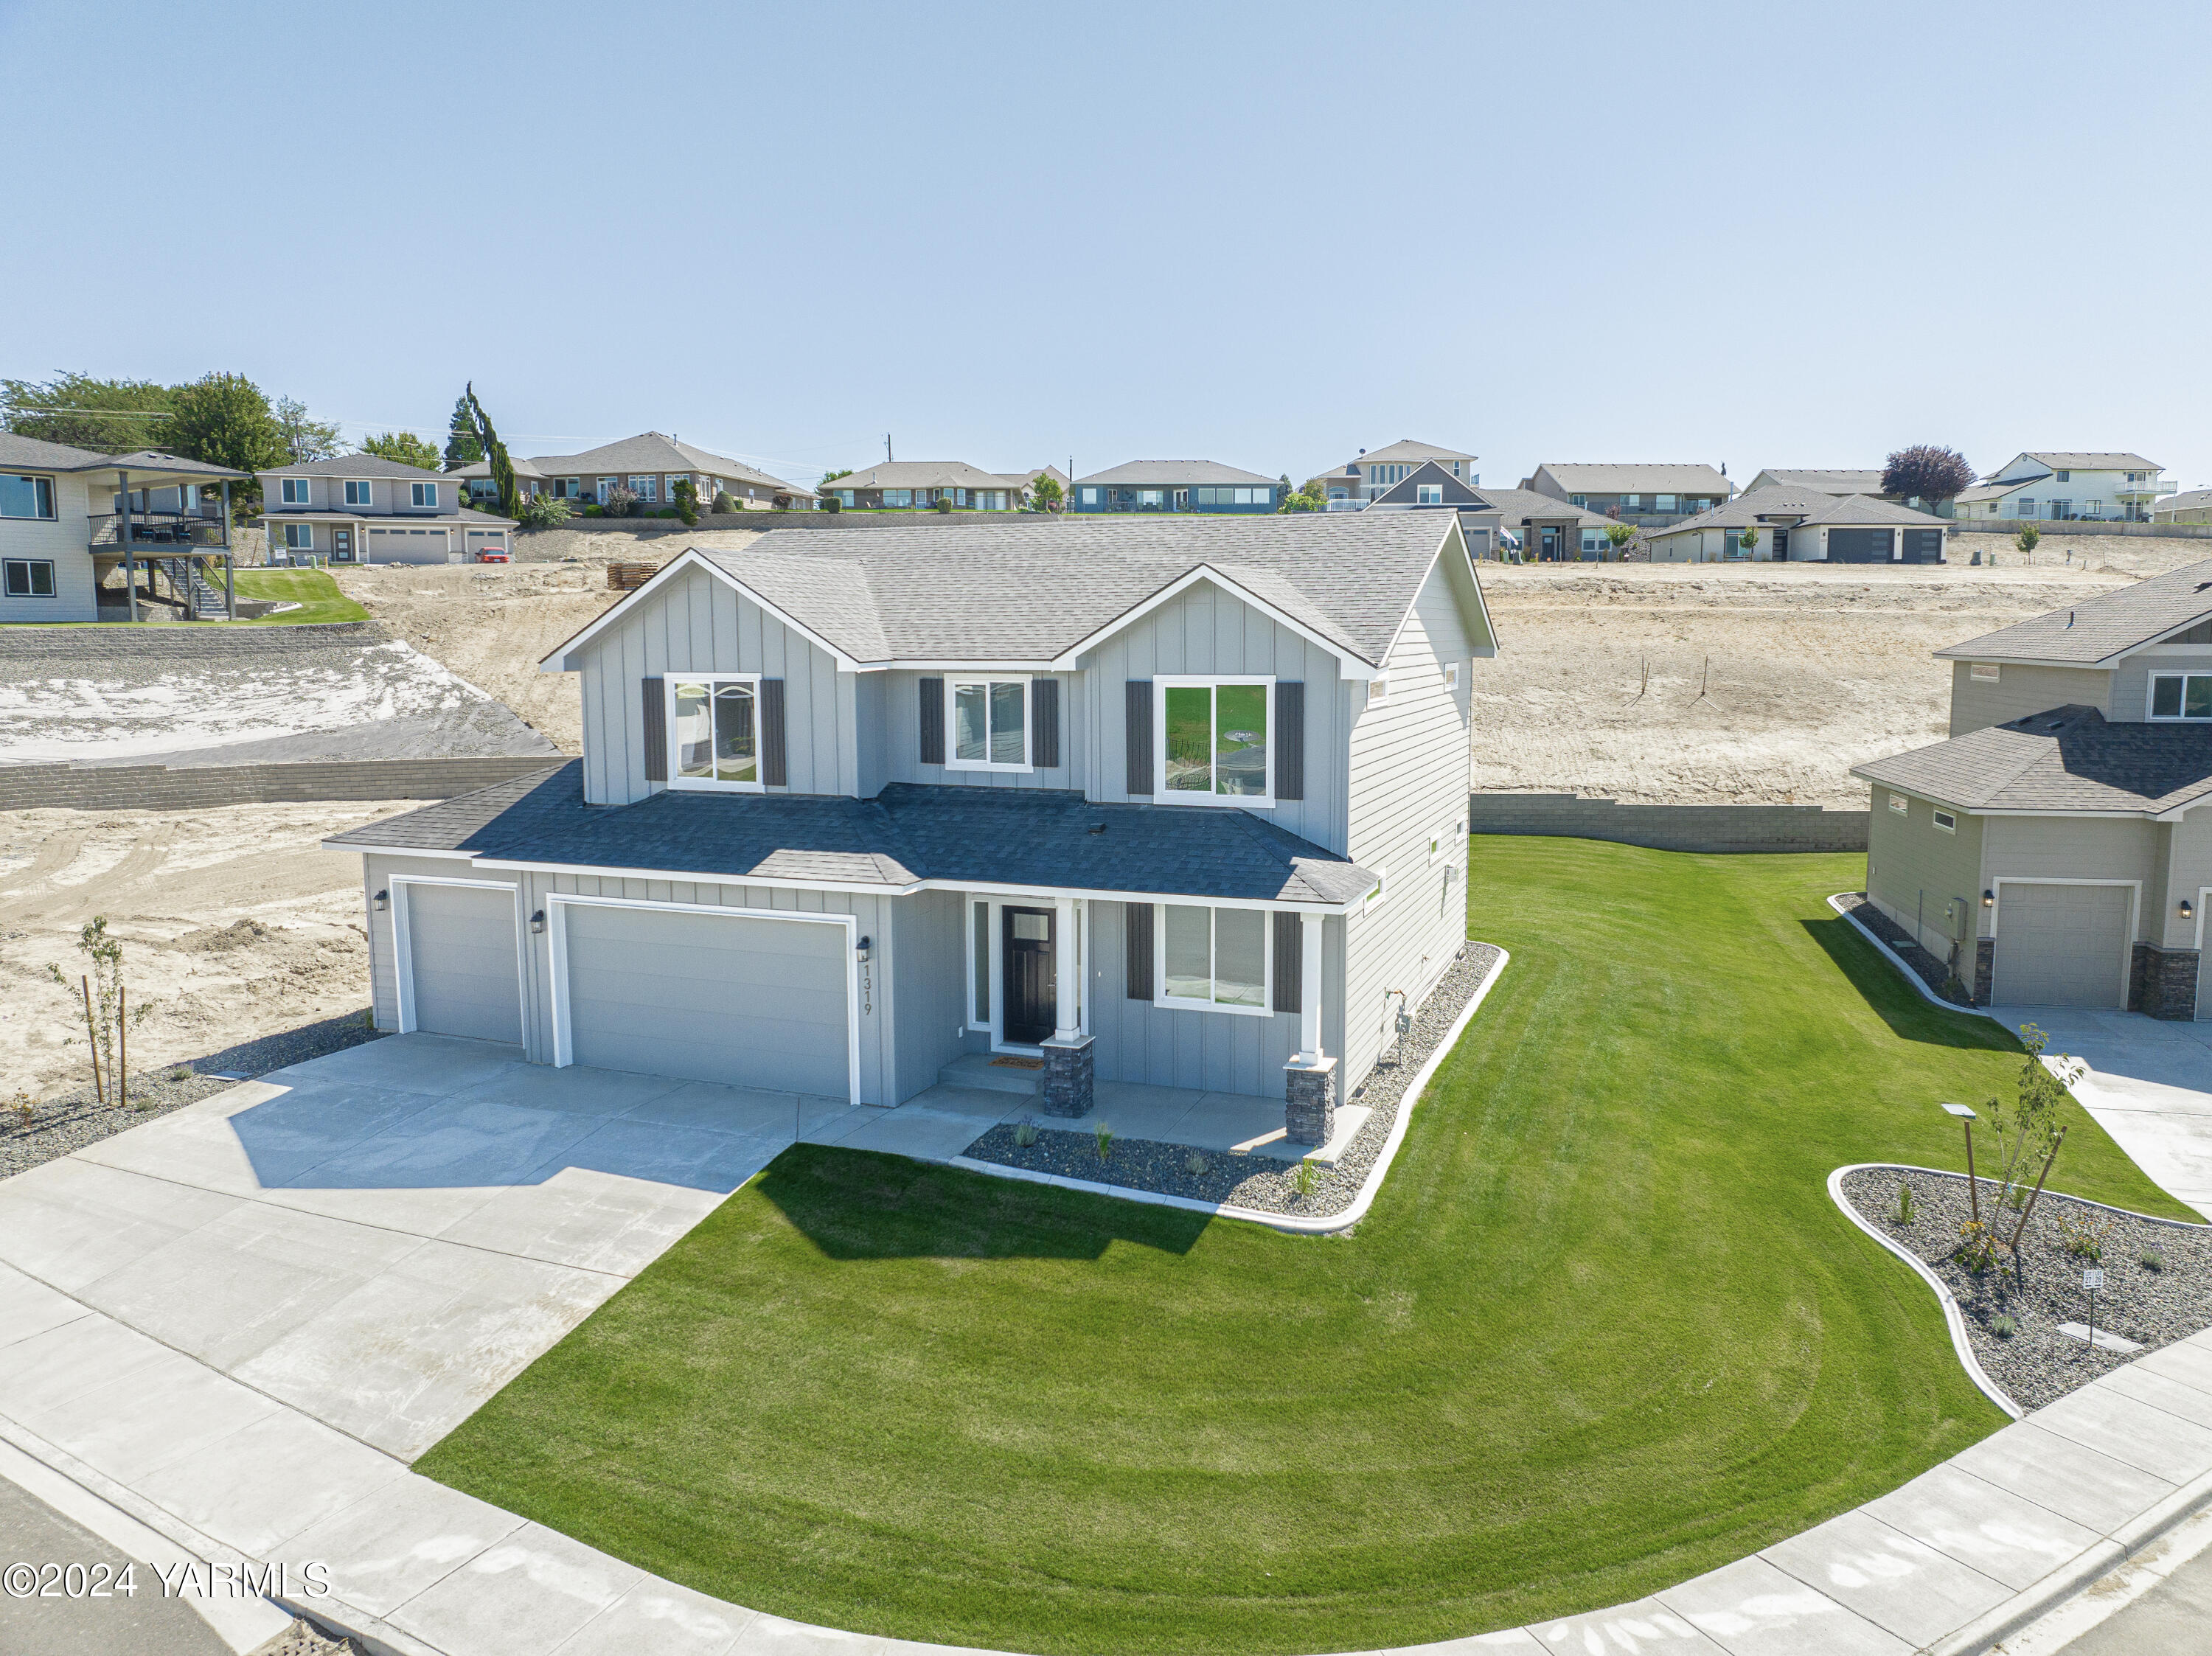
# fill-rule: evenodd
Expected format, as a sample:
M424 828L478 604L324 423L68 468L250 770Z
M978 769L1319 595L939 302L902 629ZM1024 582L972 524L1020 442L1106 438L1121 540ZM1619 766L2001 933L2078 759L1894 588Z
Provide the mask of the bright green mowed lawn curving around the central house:
M2004 1417L1829 1203L2013 1086L1863 858L1473 847L1504 979L1356 1236L796 1147L418 1466L783 1616L1345 1652L1652 1592ZM2070 1108L2055 1185L2177 1218Z

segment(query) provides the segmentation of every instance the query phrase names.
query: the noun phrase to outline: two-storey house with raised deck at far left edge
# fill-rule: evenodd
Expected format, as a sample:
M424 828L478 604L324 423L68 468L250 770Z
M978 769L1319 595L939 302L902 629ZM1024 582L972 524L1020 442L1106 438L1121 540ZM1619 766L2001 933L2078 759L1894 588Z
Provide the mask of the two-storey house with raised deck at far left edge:
M248 473L170 453L93 453L0 431L0 621L139 619L230 608L230 484ZM139 579L144 570L144 581ZM102 604L106 595L106 604Z

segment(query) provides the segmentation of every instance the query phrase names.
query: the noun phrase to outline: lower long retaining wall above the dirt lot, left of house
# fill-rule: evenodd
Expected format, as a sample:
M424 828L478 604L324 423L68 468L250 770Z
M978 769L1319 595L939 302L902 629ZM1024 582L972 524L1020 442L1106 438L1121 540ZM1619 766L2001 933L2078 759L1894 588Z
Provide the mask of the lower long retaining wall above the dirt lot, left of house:
M292 765L0 765L0 811L190 811L319 798L451 798L553 769L546 754Z

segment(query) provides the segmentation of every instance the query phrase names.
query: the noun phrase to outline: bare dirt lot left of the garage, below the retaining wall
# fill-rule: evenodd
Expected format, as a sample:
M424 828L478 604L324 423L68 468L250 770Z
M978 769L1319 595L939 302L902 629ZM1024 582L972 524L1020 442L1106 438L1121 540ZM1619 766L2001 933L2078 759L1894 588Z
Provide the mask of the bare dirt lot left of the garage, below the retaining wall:
M403 800L204 811L0 811L0 1101L91 1079L77 929L122 937L131 1068L181 1063L369 1002L361 858L325 834Z

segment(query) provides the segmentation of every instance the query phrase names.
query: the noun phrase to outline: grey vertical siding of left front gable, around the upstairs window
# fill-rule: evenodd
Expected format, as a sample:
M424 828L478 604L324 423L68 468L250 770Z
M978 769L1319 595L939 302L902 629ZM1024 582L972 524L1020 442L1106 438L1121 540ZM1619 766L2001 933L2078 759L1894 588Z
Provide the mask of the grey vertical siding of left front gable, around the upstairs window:
M783 679L792 794L858 794L856 674L714 577L690 570L584 654L584 798L628 805L646 780L644 679L759 672Z

